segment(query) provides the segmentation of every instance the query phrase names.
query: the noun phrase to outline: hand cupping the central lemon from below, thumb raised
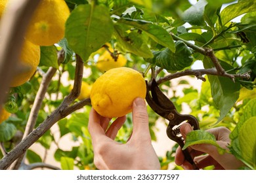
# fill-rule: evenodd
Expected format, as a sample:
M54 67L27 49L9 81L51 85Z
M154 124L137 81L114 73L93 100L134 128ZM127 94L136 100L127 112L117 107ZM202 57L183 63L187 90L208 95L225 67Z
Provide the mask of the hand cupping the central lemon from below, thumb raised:
M158 156L151 143L148 113L143 99L133 101L133 133L125 144L114 141L126 120L125 116L117 118L108 127L110 120L92 108L88 129L98 169L160 169Z

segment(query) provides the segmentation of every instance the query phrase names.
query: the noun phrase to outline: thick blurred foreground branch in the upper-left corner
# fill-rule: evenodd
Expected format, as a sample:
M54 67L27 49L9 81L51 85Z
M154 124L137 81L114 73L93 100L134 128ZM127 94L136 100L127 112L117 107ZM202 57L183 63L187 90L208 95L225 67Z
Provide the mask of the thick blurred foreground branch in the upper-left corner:
M40 0L10 1L0 21L0 104L5 101L16 64L20 56L24 34ZM1 109L1 105L0 105Z

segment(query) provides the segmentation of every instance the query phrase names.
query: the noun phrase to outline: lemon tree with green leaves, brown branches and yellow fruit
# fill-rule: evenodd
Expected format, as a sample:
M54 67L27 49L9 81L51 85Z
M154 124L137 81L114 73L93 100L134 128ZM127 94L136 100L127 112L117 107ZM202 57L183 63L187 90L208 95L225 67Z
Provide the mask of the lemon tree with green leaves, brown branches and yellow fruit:
M10 2L0 1L0 21L12 11ZM8 91L0 87L9 112L0 112L0 169L49 167L54 162L45 152L57 162L53 169L95 169L91 107L109 118L127 116L116 137L125 143L133 130L131 103L144 98L145 80L152 78L179 112L189 108L198 118L201 131L190 134L186 146L215 144L205 129L225 126L232 131L228 153L245 163L242 169L255 169L253 0L42 0L31 18L16 65L0 70L0 86L11 80ZM14 78L5 78L10 72ZM150 107L148 114L158 142L160 117ZM61 146L67 136L70 150ZM44 151L30 148L35 143ZM176 148L159 157L162 169L182 169L174 165Z

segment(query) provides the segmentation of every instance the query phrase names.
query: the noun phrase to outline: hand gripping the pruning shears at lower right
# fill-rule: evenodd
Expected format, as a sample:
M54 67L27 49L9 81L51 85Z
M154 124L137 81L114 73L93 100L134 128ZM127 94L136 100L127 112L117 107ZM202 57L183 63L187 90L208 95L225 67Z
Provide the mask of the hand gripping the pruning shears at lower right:
M190 124L181 125L181 135L186 140L186 135L192 131ZM229 134L230 130L226 127L216 127L207 130L215 135L217 143L222 148L228 149L228 144L230 143ZM224 153L219 154L217 147L211 144L196 144L188 148L192 158L197 167L202 169L204 167L214 165L215 169L238 169L244 165L242 161L236 159L232 154ZM206 154L206 155L205 155ZM192 169L192 165L184 159L181 147L177 148L175 163L181 165L184 169Z

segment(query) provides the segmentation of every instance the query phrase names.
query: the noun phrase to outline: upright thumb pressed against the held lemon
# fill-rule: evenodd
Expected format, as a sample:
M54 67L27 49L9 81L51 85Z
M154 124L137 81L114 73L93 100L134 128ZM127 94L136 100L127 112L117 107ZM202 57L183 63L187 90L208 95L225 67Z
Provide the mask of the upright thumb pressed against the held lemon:
M151 139L146 103L139 97L133 101L133 135L131 138L136 138L137 141Z

